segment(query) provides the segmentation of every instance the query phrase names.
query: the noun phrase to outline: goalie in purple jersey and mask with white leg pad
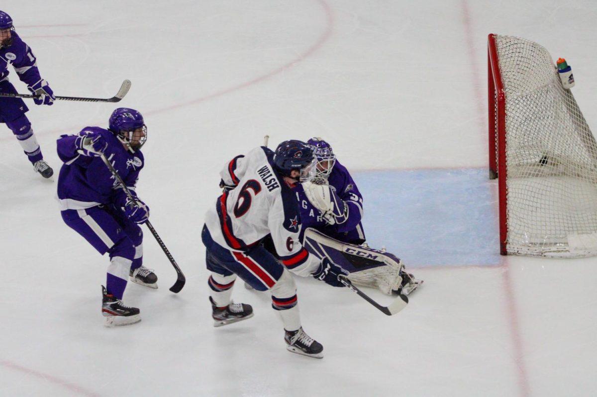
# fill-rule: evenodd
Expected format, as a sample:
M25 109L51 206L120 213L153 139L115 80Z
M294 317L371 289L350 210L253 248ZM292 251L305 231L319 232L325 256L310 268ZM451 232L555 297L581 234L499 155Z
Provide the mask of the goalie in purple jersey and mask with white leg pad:
M400 259L365 244L363 198L331 145L321 138L311 138L307 144L317 159L316 175L296 193L303 221L300 240L307 250L319 258L328 256L350 272L349 280L355 284L378 287L388 294L417 289L423 281L405 272ZM338 250L345 255L337 255ZM363 259L373 257L376 260Z

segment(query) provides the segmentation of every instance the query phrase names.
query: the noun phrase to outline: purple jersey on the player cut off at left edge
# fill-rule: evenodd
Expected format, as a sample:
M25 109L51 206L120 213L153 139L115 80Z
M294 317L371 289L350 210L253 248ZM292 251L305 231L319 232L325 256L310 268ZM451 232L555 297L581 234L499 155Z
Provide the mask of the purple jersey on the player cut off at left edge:
M19 79L27 85L33 85L41 80L35 55L17 33L11 32L11 35L13 44L0 48L0 81L8 80L8 65L12 64Z

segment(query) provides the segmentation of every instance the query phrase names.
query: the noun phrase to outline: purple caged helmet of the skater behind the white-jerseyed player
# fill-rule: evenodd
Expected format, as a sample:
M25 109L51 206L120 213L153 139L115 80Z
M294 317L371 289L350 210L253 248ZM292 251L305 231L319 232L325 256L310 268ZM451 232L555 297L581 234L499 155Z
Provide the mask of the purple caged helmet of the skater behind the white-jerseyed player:
M147 126L143 122L143 116L137 110L128 107L117 108L112 112L108 125L112 134L115 134L133 153L147 141Z

